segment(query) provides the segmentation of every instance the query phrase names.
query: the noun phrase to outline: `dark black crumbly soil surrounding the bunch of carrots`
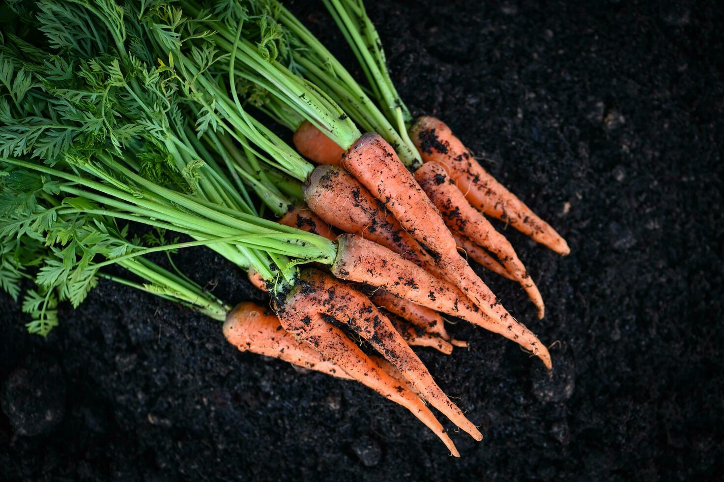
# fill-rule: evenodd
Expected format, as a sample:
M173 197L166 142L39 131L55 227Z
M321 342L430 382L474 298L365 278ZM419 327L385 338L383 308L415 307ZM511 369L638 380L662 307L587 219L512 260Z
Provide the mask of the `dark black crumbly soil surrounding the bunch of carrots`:
M240 354L218 324L153 296L101 282L47 340L24 332L4 296L0 479L721 473L723 11L674 1L368 3L413 112L448 122L571 244L562 258L507 231L547 301L542 321L514 283L490 280L519 319L556 341L553 377L515 344L462 323L450 331L469 351L420 350L484 431L481 443L455 434L455 460L363 386ZM303 8L353 65L323 9ZM256 296L211 252L179 263L224 299Z

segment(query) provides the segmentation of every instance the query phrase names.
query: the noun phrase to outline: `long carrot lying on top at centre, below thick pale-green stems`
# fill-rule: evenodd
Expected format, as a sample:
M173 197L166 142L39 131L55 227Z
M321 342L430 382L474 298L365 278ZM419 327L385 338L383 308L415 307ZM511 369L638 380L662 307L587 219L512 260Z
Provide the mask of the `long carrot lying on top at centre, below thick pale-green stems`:
M455 238L437 208L390 144L378 134L366 133L345 154L342 165L384 202L400 225L432 254L442 273L489 317L502 323L512 318L468 262L460 257Z

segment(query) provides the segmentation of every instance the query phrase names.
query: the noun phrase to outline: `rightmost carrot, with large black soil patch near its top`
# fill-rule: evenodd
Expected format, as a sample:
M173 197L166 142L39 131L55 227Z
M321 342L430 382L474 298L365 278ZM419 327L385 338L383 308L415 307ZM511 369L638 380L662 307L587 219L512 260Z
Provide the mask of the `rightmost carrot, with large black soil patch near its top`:
M425 162L439 162L445 167L473 207L505 221L559 254L571 252L555 229L483 169L445 122L436 117L420 117L410 129L410 137Z

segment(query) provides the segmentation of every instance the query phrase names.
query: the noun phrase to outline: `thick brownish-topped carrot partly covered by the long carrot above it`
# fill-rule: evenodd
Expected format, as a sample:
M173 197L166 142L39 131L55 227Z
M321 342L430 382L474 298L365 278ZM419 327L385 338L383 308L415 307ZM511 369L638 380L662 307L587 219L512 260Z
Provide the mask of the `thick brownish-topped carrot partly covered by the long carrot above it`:
M430 273L442 276L434 259L347 171L334 166L316 167L304 183L303 192L308 206L327 223L387 246Z

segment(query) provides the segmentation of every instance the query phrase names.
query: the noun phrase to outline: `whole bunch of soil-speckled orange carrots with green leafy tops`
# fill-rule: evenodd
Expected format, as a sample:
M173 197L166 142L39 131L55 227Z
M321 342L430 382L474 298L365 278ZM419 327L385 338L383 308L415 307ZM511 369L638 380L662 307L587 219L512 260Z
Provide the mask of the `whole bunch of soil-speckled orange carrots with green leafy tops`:
M551 369L546 346L468 259L519 283L543 317L489 217L560 254L568 245L445 123L411 117L361 0L324 4L366 86L274 0L11 4L17 21L0 39L1 284L17 299L23 279L35 283L23 309L41 335L58 324L57 304L77 307L98 278L184 304L224 320L241 351L369 386L457 457L425 402L481 433L411 346L466 346L447 315ZM258 113L292 130L294 147ZM146 235L129 236L131 225ZM204 291L172 261L190 246L242 269L270 307L232 308ZM146 259L154 252L170 269Z

